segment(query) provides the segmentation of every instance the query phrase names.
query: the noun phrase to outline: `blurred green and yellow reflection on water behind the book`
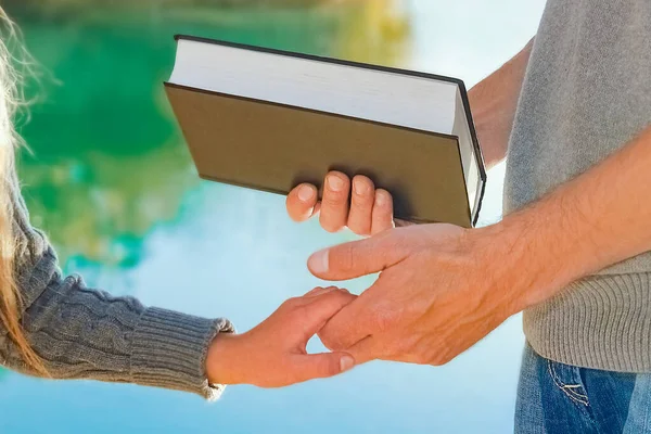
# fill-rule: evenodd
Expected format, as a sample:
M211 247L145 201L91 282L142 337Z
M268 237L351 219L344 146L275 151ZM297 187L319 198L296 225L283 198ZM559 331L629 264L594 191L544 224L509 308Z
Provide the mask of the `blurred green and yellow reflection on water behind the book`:
M120 268L143 239L175 224L197 183L162 88L173 35L395 65L408 23L390 0L303 8L155 7L67 10L10 2L28 50L47 69L28 90L43 102L22 128L20 163L33 224L62 259Z

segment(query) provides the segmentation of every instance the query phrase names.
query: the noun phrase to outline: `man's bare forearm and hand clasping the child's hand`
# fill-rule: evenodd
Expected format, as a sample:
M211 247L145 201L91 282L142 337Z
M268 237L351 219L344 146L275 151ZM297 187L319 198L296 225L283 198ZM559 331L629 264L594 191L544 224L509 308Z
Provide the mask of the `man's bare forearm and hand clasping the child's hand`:
M651 250L651 128L501 222L385 231L312 255L329 280L382 271L321 332L327 346L441 365L506 318Z

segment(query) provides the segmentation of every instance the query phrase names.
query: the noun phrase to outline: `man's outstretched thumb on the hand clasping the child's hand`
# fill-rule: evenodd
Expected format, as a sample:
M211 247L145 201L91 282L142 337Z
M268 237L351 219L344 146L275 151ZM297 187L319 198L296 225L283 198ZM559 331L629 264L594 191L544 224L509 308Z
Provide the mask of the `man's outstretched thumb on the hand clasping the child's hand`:
M348 280L379 272L408 255L404 232L384 231L376 237L324 248L307 259L307 268L324 280Z

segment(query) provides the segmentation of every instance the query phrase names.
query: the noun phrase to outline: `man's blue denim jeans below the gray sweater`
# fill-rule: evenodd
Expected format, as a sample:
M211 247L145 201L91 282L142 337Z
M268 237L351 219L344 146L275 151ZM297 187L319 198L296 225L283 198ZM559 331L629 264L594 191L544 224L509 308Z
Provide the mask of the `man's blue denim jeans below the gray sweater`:
M515 433L651 433L651 374L563 365L526 345Z

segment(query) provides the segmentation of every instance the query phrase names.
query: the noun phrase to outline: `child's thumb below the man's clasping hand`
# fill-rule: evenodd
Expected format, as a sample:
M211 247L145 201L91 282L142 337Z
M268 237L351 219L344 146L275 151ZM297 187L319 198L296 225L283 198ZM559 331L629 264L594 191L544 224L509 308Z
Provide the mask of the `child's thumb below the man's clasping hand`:
M355 366L347 353L320 353L292 356L291 383L324 379L345 372Z

